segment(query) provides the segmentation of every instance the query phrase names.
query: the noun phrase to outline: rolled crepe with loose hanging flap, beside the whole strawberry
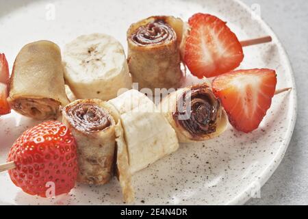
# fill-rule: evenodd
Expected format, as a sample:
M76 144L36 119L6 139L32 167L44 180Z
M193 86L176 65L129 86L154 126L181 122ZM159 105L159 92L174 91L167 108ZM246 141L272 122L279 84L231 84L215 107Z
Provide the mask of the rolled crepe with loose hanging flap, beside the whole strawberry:
M118 112L109 103L99 99L87 99L70 103L64 107L62 114L63 123L70 128L77 140L77 181L90 185L104 185L114 175L114 166L117 164L124 200L131 203L134 192L127 146Z

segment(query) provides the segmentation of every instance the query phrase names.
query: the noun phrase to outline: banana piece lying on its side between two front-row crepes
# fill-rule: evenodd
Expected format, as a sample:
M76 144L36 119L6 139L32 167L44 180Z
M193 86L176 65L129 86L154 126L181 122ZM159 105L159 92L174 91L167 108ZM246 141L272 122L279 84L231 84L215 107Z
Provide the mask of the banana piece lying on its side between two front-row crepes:
M120 114L131 174L179 149L175 130L144 94L129 90L108 103Z

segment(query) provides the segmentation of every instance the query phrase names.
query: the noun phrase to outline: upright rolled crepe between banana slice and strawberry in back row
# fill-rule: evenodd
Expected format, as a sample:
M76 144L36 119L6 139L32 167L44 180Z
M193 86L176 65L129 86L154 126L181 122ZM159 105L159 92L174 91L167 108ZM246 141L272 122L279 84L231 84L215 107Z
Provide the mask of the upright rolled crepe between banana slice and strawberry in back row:
M140 89L181 86L183 73L179 47L183 27L183 21L172 16L152 16L129 27L129 70Z

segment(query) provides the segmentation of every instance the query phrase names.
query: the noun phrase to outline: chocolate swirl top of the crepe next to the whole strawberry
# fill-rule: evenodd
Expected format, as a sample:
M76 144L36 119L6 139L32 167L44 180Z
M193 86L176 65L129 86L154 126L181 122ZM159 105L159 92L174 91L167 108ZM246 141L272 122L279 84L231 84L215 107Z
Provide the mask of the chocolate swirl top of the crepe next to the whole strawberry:
M94 103L78 103L66 108L66 114L71 125L81 132L103 131L111 125L107 112Z

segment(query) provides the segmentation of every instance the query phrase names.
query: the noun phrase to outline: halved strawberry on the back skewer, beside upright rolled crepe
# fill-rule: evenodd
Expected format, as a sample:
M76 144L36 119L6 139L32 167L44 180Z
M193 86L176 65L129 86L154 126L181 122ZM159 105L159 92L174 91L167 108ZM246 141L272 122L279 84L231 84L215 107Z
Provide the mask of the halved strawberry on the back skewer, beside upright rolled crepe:
M194 14L189 24L184 60L193 75L214 77L240 66L242 45L224 21L210 14Z

